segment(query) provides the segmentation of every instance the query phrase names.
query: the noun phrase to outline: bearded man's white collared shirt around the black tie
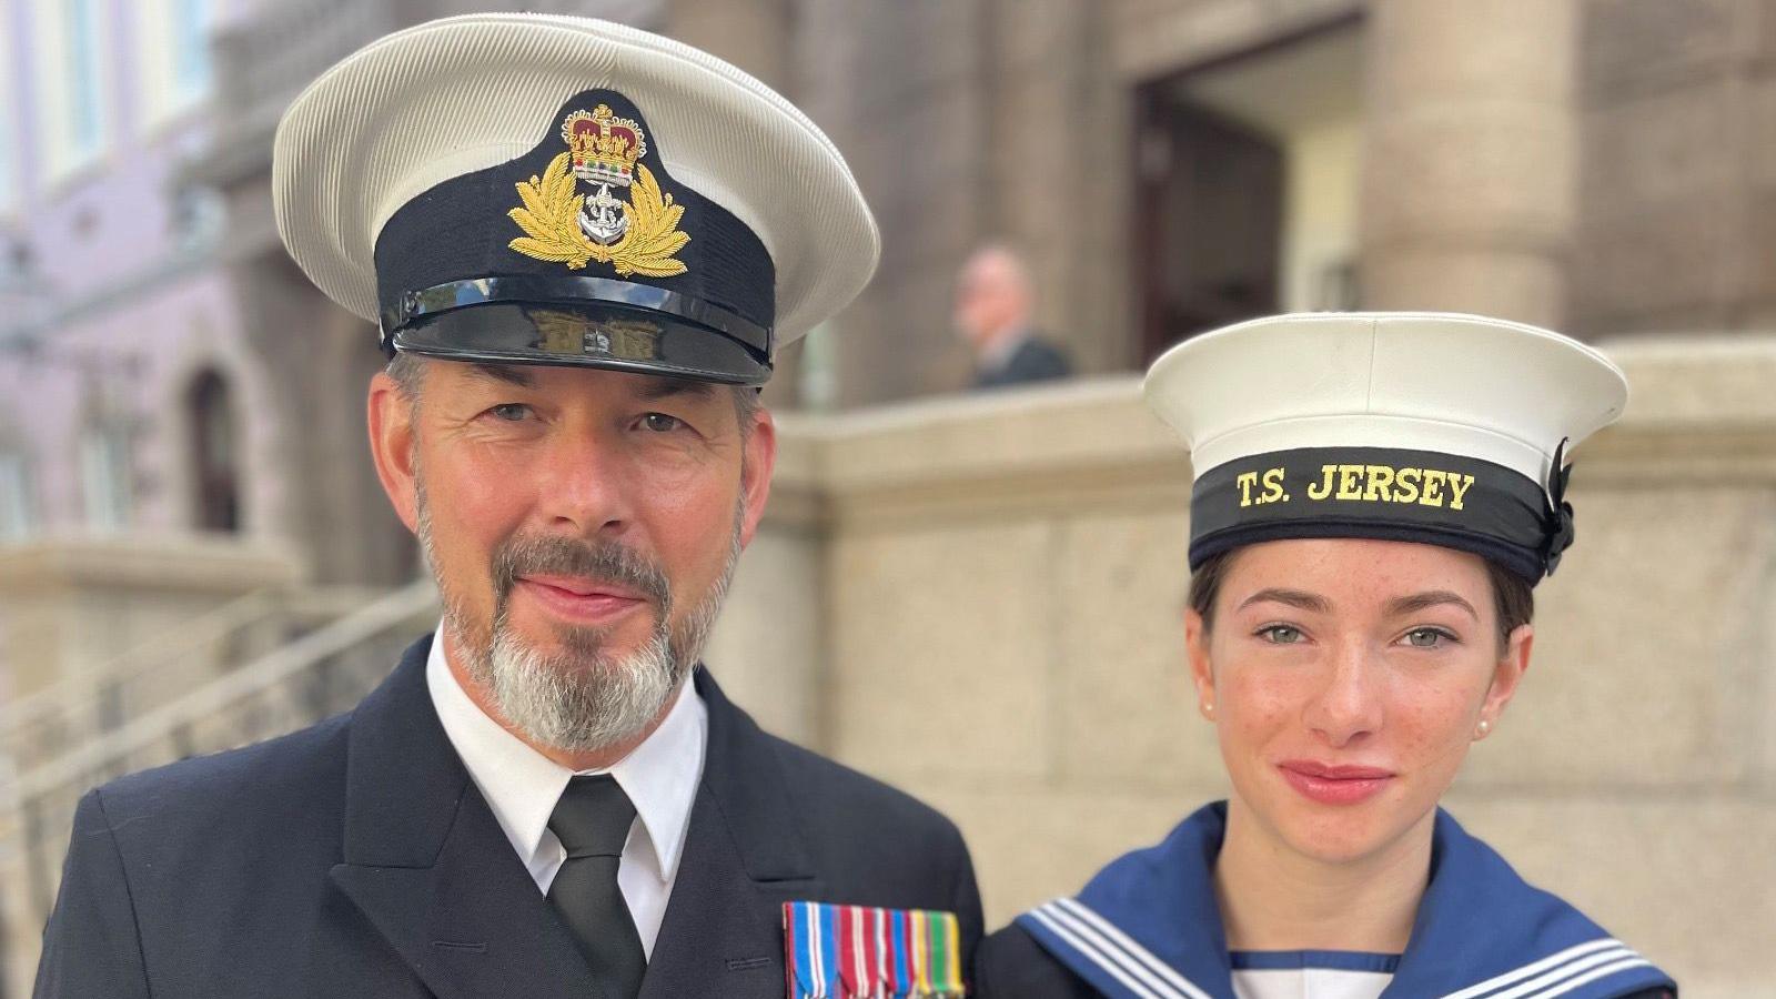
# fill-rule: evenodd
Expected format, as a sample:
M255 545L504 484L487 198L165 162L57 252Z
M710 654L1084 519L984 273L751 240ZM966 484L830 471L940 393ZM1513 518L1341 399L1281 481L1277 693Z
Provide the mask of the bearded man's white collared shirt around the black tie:
M641 949L654 956L654 940L666 917L666 899L678 878L691 805L703 779L703 750L709 743L709 707L686 683L659 729L609 770L574 771L527 747L481 711L456 683L444 658L444 626L432 640L426 659L426 686L432 706L444 723L456 755L487 805L499 819L511 848L531 871L543 894L554 882L567 851L549 832L561 791L572 777L609 773L636 805L636 823L623 843L616 883L629 903L629 915L641 935Z

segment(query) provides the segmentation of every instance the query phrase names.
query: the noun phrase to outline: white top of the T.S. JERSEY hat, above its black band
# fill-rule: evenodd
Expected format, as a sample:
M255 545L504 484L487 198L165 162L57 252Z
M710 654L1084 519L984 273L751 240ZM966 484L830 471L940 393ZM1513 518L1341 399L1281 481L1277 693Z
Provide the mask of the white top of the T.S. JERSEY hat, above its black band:
M1257 453L1371 446L1467 455L1545 482L1621 416L1629 380L1547 329L1458 313L1295 313L1186 340L1147 372L1147 405L1195 475Z

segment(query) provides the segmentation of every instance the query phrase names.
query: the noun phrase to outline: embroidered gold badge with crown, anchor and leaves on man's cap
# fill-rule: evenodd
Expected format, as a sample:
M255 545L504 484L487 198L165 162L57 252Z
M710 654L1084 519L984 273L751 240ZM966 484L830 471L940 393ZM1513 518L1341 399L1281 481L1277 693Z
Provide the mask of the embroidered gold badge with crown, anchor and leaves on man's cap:
M533 260L565 263L568 270L599 261L623 277L684 274L684 261L673 258L691 242L689 233L678 231L684 206L673 204L641 162L648 153L641 124L599 105L591 114L568 114L561 140L568 149L542 176L515 185L524 204L506 217L524 235L506 245ZM581 194L579 181L597 188ZM611 185L630 188L629 201L611 194Z

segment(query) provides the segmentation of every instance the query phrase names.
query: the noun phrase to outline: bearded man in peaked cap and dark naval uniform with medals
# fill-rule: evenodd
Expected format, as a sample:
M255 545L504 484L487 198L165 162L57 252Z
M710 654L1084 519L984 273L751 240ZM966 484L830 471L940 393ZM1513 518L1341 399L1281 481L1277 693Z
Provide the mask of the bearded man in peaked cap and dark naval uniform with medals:
M348 715L89 793L36 994L957 994L955 827L698 667L769 491L757 386L876 265L833 144L684 44L474 14L302 92L274 197L380 324L371 452L444 620Z

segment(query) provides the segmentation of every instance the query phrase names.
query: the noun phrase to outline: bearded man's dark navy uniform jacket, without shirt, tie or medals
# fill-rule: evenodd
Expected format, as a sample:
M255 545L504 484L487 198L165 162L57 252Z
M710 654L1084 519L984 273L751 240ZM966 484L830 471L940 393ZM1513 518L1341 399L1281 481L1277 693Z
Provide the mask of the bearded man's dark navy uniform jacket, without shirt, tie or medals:
M89 793L39 997L586 999L600 988L426 691L430 638L357 709ZM780 999L785 901L955 912L955 827L767 736L707 670L703 784L641 995Z

